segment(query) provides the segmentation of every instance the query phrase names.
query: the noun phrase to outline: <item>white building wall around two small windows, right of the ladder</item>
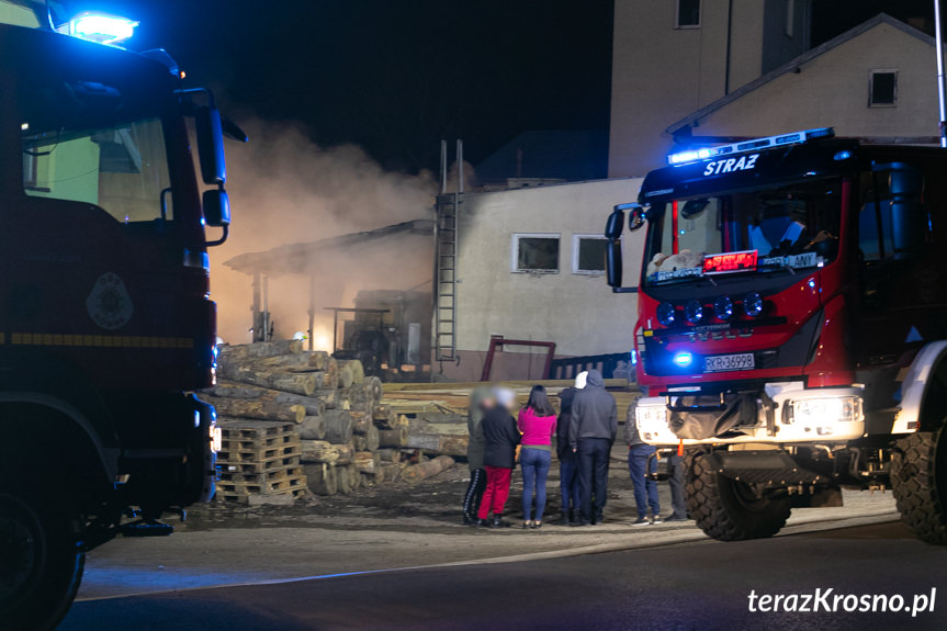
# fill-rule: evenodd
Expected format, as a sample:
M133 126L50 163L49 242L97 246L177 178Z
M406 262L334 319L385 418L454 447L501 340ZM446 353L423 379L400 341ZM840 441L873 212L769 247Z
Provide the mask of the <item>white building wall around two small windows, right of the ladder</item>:
M554 341L556 357L630 351L635 294L613 294L604 274L573 273L572 243L574 235L600 235L612 206L636 200L640 188L640 179L620 179L467 193L458 230L460 362L443 365L444 374L480 379L492 335ZM512 236L518 233L559 234L559 272L512 271ZM644 230L625 234L625 285L638 284L643 237ZM511 363L514 353L503 354L507 361L497 359L495 378L540 375L540 354L526 364Z

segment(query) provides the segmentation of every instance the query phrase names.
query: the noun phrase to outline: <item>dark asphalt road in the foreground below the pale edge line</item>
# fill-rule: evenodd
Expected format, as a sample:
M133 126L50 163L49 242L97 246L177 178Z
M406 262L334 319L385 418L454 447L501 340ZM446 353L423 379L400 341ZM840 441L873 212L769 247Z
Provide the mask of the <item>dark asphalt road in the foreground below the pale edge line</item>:
M61 631L947 629L947 549L899 522L77 602ZM828 589L827 598L812 598ZM816 590L821 590L821 594ZM932 590L934 599L932 604ZM751 594L757 611L751 611ZM778 612L760 596L781 600ZM845 596L849 597L845 599ZM846 612L864 595L898 612ZM837 605L835 597L839 596ZM926 600L925 600L926 598ZM787 605L797 611L787 612ZM800 611L807 606L816 611ZM826 611L835 606L837 611ZM920 609L923 611L912 611ZM900 609L900 606L899 606ZM933 609L933 611L932 611ZM916 613L916 615L914 615Z

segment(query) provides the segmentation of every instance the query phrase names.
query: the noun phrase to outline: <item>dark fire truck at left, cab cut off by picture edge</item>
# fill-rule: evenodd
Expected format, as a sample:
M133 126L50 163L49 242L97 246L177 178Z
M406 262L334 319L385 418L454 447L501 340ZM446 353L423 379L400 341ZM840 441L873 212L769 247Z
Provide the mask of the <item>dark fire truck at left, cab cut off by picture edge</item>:
M87 551L168 533L164 512L214 493L214 410L185 393L214 380L207 248L229 223L223 131L241 136L166 53L115 46L127 21L61 33L40 7L0 2L0 628L18 630L56 626Z

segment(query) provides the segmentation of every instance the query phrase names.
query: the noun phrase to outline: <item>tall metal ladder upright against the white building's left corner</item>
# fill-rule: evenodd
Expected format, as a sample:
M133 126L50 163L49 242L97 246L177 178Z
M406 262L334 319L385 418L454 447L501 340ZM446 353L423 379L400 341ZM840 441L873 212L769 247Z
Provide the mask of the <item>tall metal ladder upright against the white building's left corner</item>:
M435 219L435 359L456 360L458 216L463 204L463 144L458 140L458 188L447 192L447 143L441 140L441 194Z

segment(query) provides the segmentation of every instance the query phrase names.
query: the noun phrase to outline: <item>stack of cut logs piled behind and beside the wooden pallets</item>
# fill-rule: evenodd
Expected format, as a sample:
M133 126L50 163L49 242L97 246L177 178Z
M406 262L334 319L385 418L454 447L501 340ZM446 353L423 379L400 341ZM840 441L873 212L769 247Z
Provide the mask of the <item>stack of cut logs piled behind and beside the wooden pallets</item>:
M215 406L218 425L293 422L306 483L318 495L418 482L453 466L451 455L466 454L465 436L426 433L382 405L381 381L367 376L361 362L304 351L298 340L222 346L217 376L199 396Z

